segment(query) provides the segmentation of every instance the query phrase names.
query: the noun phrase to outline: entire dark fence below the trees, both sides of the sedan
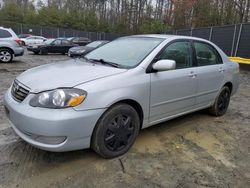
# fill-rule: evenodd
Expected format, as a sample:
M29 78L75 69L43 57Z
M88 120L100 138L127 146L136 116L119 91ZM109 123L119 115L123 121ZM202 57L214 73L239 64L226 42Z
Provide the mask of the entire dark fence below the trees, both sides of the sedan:
M88 32L66 28L29 26L24 24L1 23L0 26L12 28L16 34L40 35L46 38L87 37L90 40L114 40L116 33ZM250 23L216 26L195 29L168 31L166 34L200 37L217 44L228 56L250 58Z

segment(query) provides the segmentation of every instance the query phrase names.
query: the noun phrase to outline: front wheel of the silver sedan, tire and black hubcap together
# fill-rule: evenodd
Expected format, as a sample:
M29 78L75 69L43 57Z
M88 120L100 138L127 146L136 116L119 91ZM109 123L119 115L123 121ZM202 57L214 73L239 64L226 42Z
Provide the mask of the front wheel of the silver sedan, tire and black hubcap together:
M140 118L136 110L124 103L108 109L98 120L91 139L91 148L104 158L126 153L139 134Z

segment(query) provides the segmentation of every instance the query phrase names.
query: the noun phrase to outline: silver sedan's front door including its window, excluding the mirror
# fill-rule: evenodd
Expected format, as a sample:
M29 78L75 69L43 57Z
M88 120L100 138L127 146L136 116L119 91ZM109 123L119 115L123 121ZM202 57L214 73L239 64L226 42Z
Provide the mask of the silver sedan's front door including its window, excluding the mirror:
M161 122L194 107L197 68L193 65L192 54L191 42L178 40L167 45L156 57L157 60L175 60L176 69L150 73L150 123Z

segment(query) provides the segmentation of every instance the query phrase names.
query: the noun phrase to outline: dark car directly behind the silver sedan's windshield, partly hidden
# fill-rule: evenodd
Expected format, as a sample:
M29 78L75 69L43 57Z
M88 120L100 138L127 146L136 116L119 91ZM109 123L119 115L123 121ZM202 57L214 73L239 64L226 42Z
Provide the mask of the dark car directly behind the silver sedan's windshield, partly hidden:
M92 50L107 44L109 41L107 40L97 40L87 44L86 46L76 46L69 49L68 56L69 57L79 57L84 56L85 54L91 52Z

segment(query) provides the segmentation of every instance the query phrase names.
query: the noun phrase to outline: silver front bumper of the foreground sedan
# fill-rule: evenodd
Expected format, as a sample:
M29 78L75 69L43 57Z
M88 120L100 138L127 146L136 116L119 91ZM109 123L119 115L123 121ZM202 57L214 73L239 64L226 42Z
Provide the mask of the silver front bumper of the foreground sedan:
M15 132L26 142L48 151L71 151L90 147L93 129L105 109L76 111L73 108L47 109L31 107L33 94L19 103L10 89L5 94L4 106ZM34 139L65 138L61 143L48 144Z

